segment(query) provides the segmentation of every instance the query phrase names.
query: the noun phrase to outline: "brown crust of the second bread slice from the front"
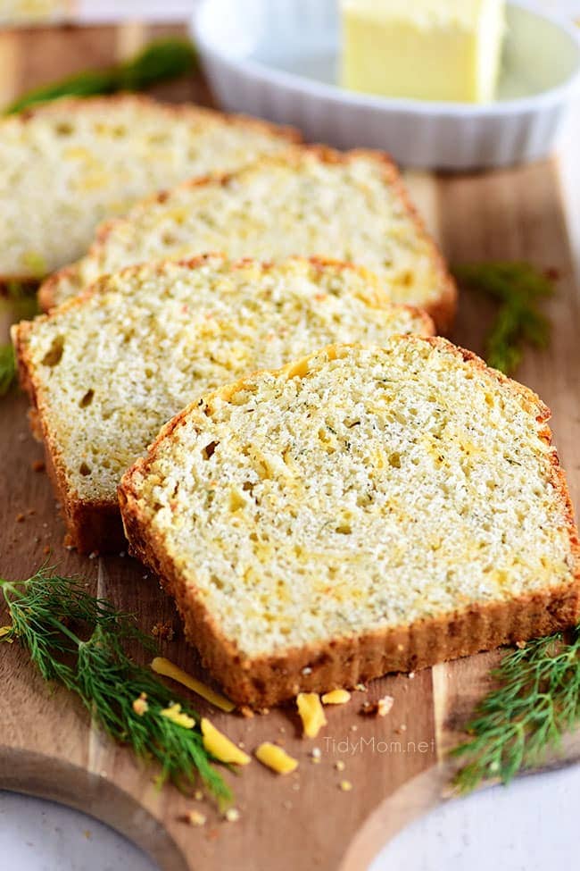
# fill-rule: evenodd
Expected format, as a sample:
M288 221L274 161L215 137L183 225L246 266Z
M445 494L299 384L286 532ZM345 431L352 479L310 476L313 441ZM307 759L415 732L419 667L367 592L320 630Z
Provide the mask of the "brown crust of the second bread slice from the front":
M203 264L215 258L227 260L223 254L203 254L191 257L187 260L178 261L160 261L155 264L155 268L162 271L166 263L186 266L191 269L203 266ZM327 266L334 266L341 272L352 270L354 272L367 272L364 267L355 264L342 263L332 260L329 257L289 257L286 262L302 261L312 264L313 266L323 270ZM231 269L242 269L244 265L252 263L250 258L237 260L230 264ZM275 269L276 264L261 264L264 271ZM120 271L121 275L130 275L142 268L140 264L134 266L126 266ZM374 279L373 279L374 280ZM71 297L58 309L54 309L53 313L41 315L45 319L50 319L58 311L63 311L74 306L80 306L83 302L106 289L107 277L103 276L97 279L93 285L83 290L78 297ZM384 302L388 300L384 299ZM398 304L397 308L406 309L407 311L418 314L423 323L423 330L426 335L435 333L435 324L426 312L413 306L405 306ZM34 378L34 367L30 360L28 350L29 333L32 330L32 322L23 321L15 324L12 327L12 343L14 345L16 360L18 364L19 381L21 388L26 391L30 402L30 418L32 429L41 441L45 448L46 468L50 479L53 483L58 501L62 507L62 515L67 527L66 540L70 546L75 547L81 554L89 553L114 553L124 549L127 546L125 533L123 532L123 524L120 518L119 505L116 499L100 499L86 500L80 499L74 492L71 492L67 483L65 465L62 462L62 457L58 448L54 433L50 431L47 423L46 414L42 399L39 396L39 391Z

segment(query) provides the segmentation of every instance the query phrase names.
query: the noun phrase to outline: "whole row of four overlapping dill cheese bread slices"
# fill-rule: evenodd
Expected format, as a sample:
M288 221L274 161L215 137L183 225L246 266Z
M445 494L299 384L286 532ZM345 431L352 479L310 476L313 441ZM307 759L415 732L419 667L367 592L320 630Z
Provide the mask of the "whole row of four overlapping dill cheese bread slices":
M434 338L455 288L385 155L132 98L30 121L34 137L26 119L10 137L66 155L39 162L54 226L0 142L29 191L6 206L0 272L24 275L29 252L76 260L44 283L48 314L13 330L70 543L119 550L126 534L233 699L574 623L548 409ZM109 163L101 136L128 147Z

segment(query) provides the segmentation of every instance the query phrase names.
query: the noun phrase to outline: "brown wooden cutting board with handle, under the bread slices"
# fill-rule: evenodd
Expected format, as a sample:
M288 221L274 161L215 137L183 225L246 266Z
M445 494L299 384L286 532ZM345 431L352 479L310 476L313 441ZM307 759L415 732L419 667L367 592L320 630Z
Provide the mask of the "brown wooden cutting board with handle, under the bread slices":
M138 48L151 30L130 24L0 34L0 103L38 82L111 63ZM210 101L199 77L160 88L159 93L169 99ZM520 258L558 273L558 293L547 306L554 329L550 351L527 354L518 377L552 408L556 443L577 501L579 297L556 166L538 163L462 176L411 174L409 183L451 262ZM461 297L453 338L481 352L490 315L479 298ZM46 475L32 468L42 451L29 435L26 410L25 399L16 392L0 400L0 574L28 577L50 549L50 559L62 573L81 574L99 595L135 612L145 631L160 621L170 621L178 630L170 600L137 562L121 556L88 560L62 547L62 523ZM179 634L163 644L162 653L187 670L199 671L195 651ZM217 713L195 699L200 712L243 741L246 750L260 741L283 740L300 766L294 775L280 777L254 760L239 777L227 773L239 821L220 819L208 805L203 807L207 825L193 828L180 817L199 803L171 787L156 791L151 771L92 729L75 699L46 686L17 644L4 645L0 787L81 808L120 829L170 871L364 868L389 836L442 800L450 775L445 751L459 740L461 724L485 691L497 657L470 657L412 678L397 675L371 683L368 692L354 693L350 704L327 710L327 728L316 741L301 739L292 707L244 719ZM360 716L364 700L387 693L394 696L389 716ZM321 751L318 764L311 761L313 747ZM579 755L580 738L571 736L564 754L552 764ZM338 761L344 762L344 772L336 769ZM339 788L343 779L352 783L352 791Z

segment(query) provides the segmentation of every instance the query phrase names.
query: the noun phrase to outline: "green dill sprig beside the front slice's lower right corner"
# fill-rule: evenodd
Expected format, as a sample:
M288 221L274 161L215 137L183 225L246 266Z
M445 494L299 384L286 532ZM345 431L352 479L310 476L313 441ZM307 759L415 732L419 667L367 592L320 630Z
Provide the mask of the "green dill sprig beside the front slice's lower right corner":
M527 641L492 674L498 685L468 723L472 737L452 750L467 758L453 782L460 792L489 778L510 783L580 724L580 625L568 640L556 632Z

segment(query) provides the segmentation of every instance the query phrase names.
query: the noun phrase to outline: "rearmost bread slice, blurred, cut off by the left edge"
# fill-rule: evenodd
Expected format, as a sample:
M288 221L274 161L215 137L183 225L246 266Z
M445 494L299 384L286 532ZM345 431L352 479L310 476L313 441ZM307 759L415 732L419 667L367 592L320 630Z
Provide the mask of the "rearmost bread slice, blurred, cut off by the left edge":
M105 217L193 175L286 150L264 121L144 96L62 99L0 121L0 281L85 254Z

